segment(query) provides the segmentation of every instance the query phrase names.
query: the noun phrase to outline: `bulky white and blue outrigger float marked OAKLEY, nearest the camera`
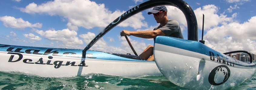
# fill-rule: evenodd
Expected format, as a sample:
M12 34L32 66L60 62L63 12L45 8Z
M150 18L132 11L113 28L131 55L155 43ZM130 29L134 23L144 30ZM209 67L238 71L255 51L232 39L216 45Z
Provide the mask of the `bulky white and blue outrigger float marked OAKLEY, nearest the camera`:
M167 79L189 89L227 89L251 78L255 72L254 63L235 60L196 41L158 37L154 55Z

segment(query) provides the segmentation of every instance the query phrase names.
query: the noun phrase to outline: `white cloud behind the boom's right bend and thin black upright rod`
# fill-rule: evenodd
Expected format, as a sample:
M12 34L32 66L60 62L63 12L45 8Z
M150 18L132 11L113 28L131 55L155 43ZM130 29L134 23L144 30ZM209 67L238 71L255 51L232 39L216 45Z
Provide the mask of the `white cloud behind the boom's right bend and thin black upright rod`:
M177 7L167 6L168 18L175 19L179 22L180 26L187 27L185 15ZM204 14L204 30L224 25L228 22L233 22L234 17L227 17L227 15L218 15L219 8L213 4L205 5L194 10L198 22L198 29L202 29L203 14ZM172 13L175 12L175 13ZM182 30L183 31L183 30Z

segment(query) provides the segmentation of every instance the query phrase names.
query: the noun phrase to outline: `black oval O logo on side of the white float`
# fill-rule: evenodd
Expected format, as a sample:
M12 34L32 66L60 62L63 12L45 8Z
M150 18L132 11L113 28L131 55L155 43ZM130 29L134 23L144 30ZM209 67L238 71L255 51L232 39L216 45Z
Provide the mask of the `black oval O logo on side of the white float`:
M219 65L211 71L208 77L208 81L211 85L221 85L228 80L229 76L230 69L228 66Z

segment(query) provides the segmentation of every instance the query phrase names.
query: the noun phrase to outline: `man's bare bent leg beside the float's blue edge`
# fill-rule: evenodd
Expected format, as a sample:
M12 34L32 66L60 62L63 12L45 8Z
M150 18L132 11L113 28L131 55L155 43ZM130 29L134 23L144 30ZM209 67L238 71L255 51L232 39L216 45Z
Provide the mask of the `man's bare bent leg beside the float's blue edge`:
M149 45L139 56L144 59L149 59L149 57L153 55L153 48L154 46Z

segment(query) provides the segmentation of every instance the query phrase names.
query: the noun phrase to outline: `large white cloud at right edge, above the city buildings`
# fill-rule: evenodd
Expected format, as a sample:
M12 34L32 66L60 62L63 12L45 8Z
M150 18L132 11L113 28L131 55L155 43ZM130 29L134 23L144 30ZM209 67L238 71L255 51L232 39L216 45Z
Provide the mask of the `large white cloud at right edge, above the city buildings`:
M256 53L255 24L256 16L241 24L232 22L213 28L204 36L205 44L223 53L234 50L246 50Z

